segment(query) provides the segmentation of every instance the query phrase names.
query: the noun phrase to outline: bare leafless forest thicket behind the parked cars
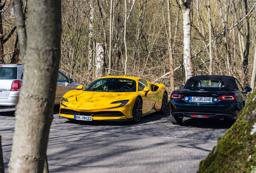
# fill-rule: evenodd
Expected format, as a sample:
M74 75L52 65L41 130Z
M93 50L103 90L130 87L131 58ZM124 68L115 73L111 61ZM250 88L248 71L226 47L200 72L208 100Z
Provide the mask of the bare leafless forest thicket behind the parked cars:
M21 63L12 1L0 2L0 64ZM184 61L181 2L62 0L60 70L83 85L100 76L125 73L163 83L169 91L184 85L189 76ZM229 75L244 86L251 85L256 45L255 2L192 0L186 4L191 18L192 75ZM25 0L23 10L27 21ZM225 32L250 10L252 13L241 23ZM209 40L223 32L211 45ZM97 58L100 46L101 59ZM100 73L96 70L99 61ZM172 76L174 82L170 82Z

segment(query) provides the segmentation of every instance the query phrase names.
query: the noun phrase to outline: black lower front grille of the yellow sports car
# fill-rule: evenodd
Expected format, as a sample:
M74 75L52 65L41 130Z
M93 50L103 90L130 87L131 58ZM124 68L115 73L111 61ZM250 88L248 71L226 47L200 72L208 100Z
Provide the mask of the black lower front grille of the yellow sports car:
M70 109L61 109L61 114L66 115L85 115L85 116L93 116L93 117L122 117L124 116L123 113L119 111L103 111L103 112L79 112L79 111L73 111Z

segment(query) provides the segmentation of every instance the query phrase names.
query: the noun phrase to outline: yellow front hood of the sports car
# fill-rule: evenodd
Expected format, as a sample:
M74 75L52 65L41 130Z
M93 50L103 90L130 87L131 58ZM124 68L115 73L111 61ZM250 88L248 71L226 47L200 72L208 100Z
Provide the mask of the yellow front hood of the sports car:
M114 101L136 99L138 93L116 93L116 92L95 92L95 91L72 91L64 95L68 103L64 105L74 109L107 109L117 107L121 103L111 104Z

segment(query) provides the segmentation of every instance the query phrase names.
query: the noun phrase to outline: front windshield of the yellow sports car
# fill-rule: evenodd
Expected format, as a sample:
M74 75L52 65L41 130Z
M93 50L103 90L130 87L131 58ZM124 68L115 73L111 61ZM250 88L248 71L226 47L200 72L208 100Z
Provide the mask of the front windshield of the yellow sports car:
M93 81L83 91L136 92L136 82L126 78L101 78Z

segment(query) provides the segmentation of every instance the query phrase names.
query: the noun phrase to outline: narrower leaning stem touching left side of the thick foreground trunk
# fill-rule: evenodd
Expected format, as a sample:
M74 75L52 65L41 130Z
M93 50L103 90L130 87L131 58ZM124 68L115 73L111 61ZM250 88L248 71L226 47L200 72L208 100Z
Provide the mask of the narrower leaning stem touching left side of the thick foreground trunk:
M20 55L21 55L21 63L22 68L25 70L25 60L26 60L26 49L27 49L27 32L25 25L25 16L26 8L23 12L23 2L21 0L13 0L13 9L15 14L15 21L17 27L17 34L19 38L19 46L20 46Z

